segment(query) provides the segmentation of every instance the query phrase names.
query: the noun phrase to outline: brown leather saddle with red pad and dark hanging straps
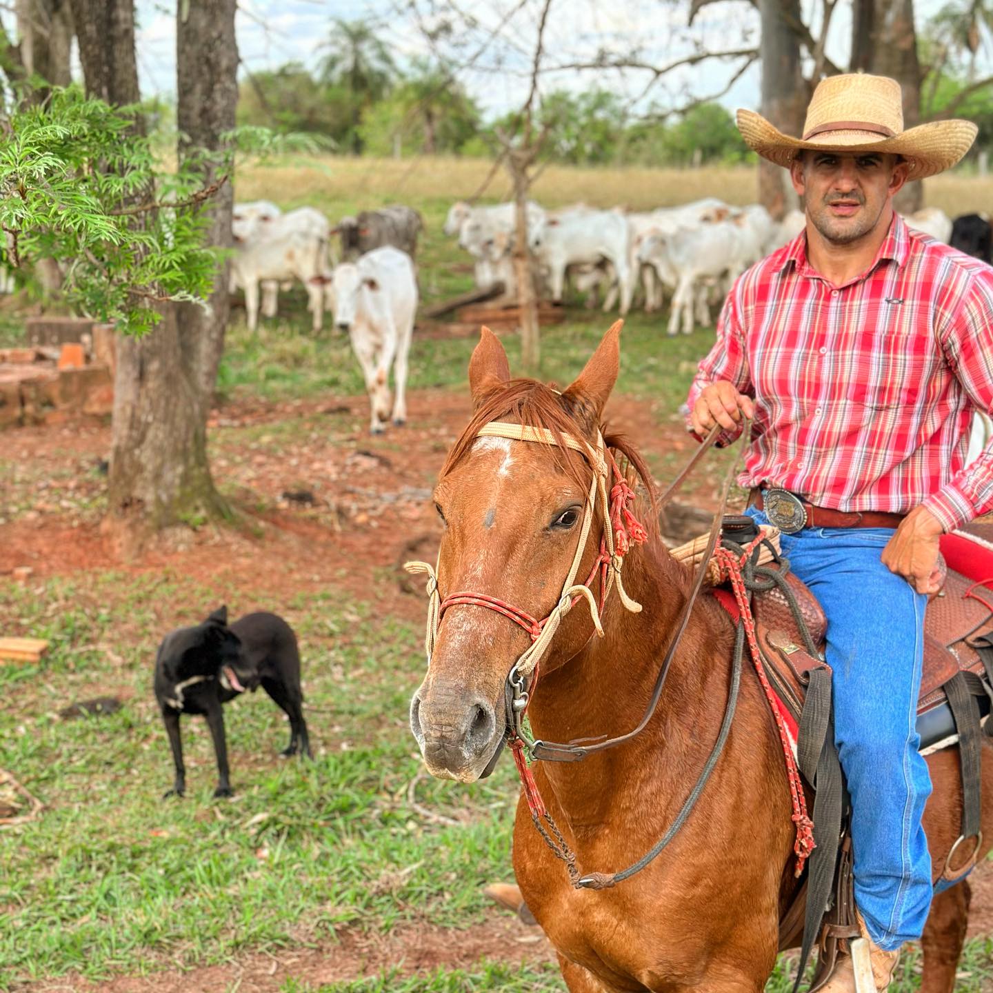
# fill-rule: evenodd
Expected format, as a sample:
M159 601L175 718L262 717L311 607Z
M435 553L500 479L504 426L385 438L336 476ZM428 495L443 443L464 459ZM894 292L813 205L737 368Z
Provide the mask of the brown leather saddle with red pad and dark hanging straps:
M725 517L722 539L741 548L750 540L749 517ZM833 742L831 670L824 660L824 613L810 590L784 569L779 557L762 566L752 614L764 667L780 703L780 716L796 743L801 774L814 795L816 848L780 920L780 950L802 935L801 962L814 943L814 993L830 977L839 950L858 937L853 893L847 791ZM918 732L922 754L958 745L962 777L961 836L937 885L953 885L971 871L979 851L979 775L982 720L993 700L993 523L973 523L941 538L944 580L924 614L924 650ZM758 562L756 553L753 561ZM758 572L758 570L756 570ZM770 581L778 574L778 581ZM713 594L737 621L734 598ZM993 731L993 721L985 727ZM816 786L816 790L813 787ZM971 859L952 868L960 843L975 838ZM963 854L969 849L966 843ZM826 908L826 910L825 910ZM803 969L799 969L798 989Z

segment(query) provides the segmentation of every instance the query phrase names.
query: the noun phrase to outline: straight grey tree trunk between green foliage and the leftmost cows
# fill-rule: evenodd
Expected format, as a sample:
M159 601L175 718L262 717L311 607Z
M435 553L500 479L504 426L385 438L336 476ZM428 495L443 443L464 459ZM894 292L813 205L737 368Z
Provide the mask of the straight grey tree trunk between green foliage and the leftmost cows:
M183 18L183 8L188 16ZM234 127L237 103L238 50L234 39L235 0L198 0L180 5L176 36L176 69L179 102L177 123L180 131L179 154L188 159L199 150L222 152L220 135ZM202 167L205 186L218 179L216 163ZM230 183L224 183L211 199L206 211L211 218L208 243L229 248L231 207L234 195ZM229 298L227 273L230 262L218 265L209 298L211 313L195 304L180 304L180 329L183 352L198 382L204 420L210 412L217 380L217 366L224 351Z

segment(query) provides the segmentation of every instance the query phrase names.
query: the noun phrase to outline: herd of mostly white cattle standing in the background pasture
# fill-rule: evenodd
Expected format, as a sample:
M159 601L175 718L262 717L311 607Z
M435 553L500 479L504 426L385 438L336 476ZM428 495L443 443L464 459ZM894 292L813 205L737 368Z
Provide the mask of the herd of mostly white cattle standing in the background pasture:
M906 219L939 241L993 261L990 218L984 214L952 222L925 208ZM647 312L659 310L667 290L670 335L689 334L694 323L709 326L711 307L731 283L799 233L803 223L799 211L777 222L758 204L737 208L715 198L643 213L583 204L558 211L526 205L532 272L541 296L560 303L568 282L587 294L588 304L602 294L605 311L619 307L624 315L636 304ZM321 330L330 309L335 326L349 332L369 394L373 433L390 418L394 424L406 419L407 356L418 302L414 260L423 228L421 215L409 207L363 211L333 227L310 207L282 213L268 201L234 206L230 289L244 291L249 329L258 327L260 305L263 316L275 316L280 288L301 283L314 330ZM472 256L480 290L507 301L516 298L513 204L474 207L460 201L449 210L444 232Z

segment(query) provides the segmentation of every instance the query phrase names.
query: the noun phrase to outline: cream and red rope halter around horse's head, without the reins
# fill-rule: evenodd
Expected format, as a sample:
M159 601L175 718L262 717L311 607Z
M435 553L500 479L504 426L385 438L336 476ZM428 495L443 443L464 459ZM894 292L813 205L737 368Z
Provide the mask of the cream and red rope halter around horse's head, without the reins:
M478 438L507 438L511 441L533 442L539 445L558 446L559 442L547 428L529 427L524 424L507 424L503 421L490 421L480 428ZM513 607L497 597L491 597L486 593L456 592L444 600L438 590L437 565L432 566L429 562L407 562L404 569L412 574L427 574L427 595L428 595L428 620L427 632L424 638L424 650L427 653L428 664L431 663L431 656L434 653L435 644L438 641L438 627L441 624L445 612L452 607L485 607L488 610L496 611L509 621L523 628L531 638L531 644L517 659L514 668L522 676L528 676L534 671L541 660L552 638L558 631L559 625L572 608L580 601L584 600L590 610L590 619L597 635L604 637L601 617L604 606L607 602L613 586L617 586L621 603L625 609L637 614L641 610L641 605L636 603L625 591L621 578L621 568L624 557L631 550L633 544L639 544L645 540L647 534L641 523L635 518L632 512L635 494L628 485L627 480L618 469L617 462L611 454L609 448L604 443L604 436L597 431L596 447L587 442L577 440L571 435L562 435L562 442L567 448L571 448L586 457L593 467L593 479L590 482L590 492L586 497L586 505L583 513L583 526L580 529L579 539L576 542L576 551L572 557L572 565L569 567L569 574L562 584L562 592L559 595L558 603L552 608L551 613L542 621L533 618L526 611ZM613 473L614 486L608 495L608 479ZM589 577L585 583L576 583L576 574L583 559L583 552L590 535L590 528L593 524L594 511L597 500L600 500L604 512L604 533L600 540L600 555L593 565ZM438 551L438 561L441 560L441 550ZM591 585L597 575L600 575L600 601L593 595Z

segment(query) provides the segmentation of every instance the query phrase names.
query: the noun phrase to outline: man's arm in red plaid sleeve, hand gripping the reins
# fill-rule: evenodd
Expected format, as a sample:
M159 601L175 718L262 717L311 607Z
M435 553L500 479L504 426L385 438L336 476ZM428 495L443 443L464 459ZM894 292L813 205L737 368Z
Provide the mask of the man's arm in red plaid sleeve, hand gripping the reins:
M730 445L741 434L743 414L755 416L755 403L749 395L754 390L739 316L738 288L736 283L724 302L717 322L717 341L700 362L686 401L688 429L703 438L719 424L724 431L718 435L718 445Z

